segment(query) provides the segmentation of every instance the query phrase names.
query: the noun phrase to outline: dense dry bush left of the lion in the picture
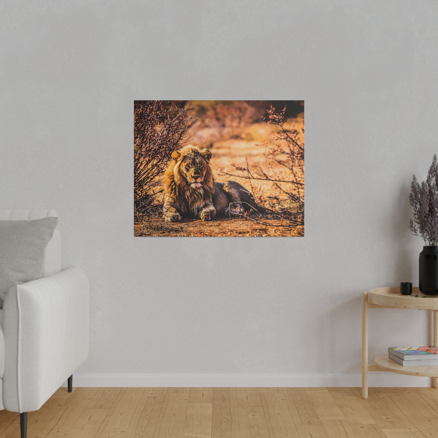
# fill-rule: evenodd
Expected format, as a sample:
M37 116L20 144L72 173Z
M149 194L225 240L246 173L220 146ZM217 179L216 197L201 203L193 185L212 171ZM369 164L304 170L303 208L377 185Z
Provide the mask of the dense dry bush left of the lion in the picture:
M161 175L174 150L184 143L188 125L194 120L186 108L162 100L134 101L134 211L159 211Z

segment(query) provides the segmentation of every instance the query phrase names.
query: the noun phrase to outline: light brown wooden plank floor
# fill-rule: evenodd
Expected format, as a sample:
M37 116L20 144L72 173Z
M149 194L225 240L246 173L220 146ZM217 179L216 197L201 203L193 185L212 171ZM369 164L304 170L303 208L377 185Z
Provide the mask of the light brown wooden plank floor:
M28 438L430 438L438 389L60 388L28 415ZM0 411L0 437L19 436Z

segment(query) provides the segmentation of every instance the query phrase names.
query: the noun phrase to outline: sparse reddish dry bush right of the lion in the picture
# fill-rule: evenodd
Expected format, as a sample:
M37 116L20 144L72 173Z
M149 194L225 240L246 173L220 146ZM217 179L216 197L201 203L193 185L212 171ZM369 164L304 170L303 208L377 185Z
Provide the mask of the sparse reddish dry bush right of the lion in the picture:
M236 173L219 170L219 174L248 180L251 191L256 196L258 196L257 181L270 181L276 193L269 197L261 195L259 202L275 212L303 212L304 141L301 140L300 132L295 127L288 126L285 114L286 106L281 111L276 111L271 106L266 113L265 120L268 124L277 125L278 130L270 138L270 143L264 141L258 145L265 148L263 152L265 166L246 160L244 166L233 165ZM302 133L304 134L304 128ZM279 169L282 171L280 172Z

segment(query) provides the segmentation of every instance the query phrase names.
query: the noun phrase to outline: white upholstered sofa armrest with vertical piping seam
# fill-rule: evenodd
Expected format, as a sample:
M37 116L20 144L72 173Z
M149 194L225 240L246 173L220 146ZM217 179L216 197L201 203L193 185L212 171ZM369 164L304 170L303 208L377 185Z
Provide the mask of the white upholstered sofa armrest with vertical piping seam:
M38 410L88 355L85 272L63 272L12 287L3 305L4 407Z

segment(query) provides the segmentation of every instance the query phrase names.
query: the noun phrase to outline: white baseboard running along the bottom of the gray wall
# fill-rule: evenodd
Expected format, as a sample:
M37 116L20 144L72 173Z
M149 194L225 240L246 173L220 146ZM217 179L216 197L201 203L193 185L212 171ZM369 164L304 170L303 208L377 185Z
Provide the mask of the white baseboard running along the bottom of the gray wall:
M358 387L361 374L82 374L76 387ZM370 387L431 386L431 378L370 372ZM67 382L64 386L67 386Z

